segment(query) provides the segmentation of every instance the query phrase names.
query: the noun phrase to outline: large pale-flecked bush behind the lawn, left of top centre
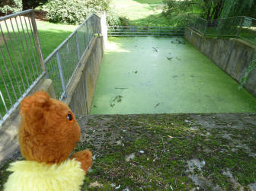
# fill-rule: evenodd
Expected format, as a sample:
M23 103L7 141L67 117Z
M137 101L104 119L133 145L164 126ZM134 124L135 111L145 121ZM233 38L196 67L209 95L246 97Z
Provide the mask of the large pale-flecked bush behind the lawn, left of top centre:
M91 13L108 11L110 0L51 0L46 5L49 21L64 24L80 24Z

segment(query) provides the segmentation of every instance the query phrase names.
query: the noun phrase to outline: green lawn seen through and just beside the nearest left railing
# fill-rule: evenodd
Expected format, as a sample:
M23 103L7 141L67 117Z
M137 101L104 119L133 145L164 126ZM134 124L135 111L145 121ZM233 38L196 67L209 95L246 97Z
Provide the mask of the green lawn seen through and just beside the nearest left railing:
M32 82L40 75L41 65L40 65L39 59L37 58L37 51L34 47L30 30L28 33L27 33L27 30L25 30L25 34L21 33L23 37L23 40L21 40L19 38L17 27L14 27L14 32L11 31L10 25L8 25L8 27L10 27L9 31L11 33L10 34L11 37L9 37L5 27L3 28L3 32L5 33L5 39L8 44L10 56L8 55L8 51L5 48L5 44L2 38L0 40L0 47L2 49L3 56L1 57L3 57L7 62L7 67L9 69L9 75L10 75L11 81L13 81L14 90L15 92L17 92L17 98L19 98L21 94L23 94L24 91L27 90L29 85L32 84ZM21 25L19 27L21 30ZM66 37L68 37L69 34L72 33L73 30L75 30L76 27L77 26L73 26L73 25L52 24L46 21L37 21L37 30L40 38L40 46L42 49L43 58L46 59L46 57L50 53L52 53L53 50L56 49L56 47L59 46L59 44L62 43L62 41L65 40ZM16 40L16 37L18 37L18 40ZM26 49L27 46L24 41L24 37L27 38L27 43L30 49ZM32 43L32 46L30 46L30 42ZM11 43L14 46L14 51L11 49ZM25 51L23 51L22 44L24 46ZM11 67L10 57L14 66L13 68ZM21 60L24 60L24 64L22 64ZM30 60L36 64L32 66L30 64ZM0 78L0 82L1 82L0 90L5 99L5 104L9 109L11 106L11 101L12 103L15 103L16 99L14 97L14 91L11 86L11 81L8 78L8 72L6 72L3 59L0 59L0 69L5 78L5 82L6 82L11 99L9 99L8 94L5 91L5 86L1 78ZM17 78L14 78L14 73L16 74ZM21 81L21 77L24 78L24 81ZM19 91L18 89L18 84L21 86L21 91ZM0 113L2 114L2 116L5 115L5 107L1 99L0 99Z

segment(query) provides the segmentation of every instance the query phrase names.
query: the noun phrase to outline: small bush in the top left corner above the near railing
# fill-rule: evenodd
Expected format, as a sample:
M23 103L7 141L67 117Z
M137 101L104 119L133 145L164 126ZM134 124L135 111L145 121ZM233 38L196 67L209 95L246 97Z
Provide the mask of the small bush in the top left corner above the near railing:
M0 2L0 14L11 14L21 10L21 0L3 0Z

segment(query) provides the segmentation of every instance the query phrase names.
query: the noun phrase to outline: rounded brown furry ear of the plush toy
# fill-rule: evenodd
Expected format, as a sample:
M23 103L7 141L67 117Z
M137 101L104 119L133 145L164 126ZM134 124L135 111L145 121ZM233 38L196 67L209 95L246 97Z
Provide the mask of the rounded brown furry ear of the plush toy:
M43 125L43 112L50 107L50 96L44 91L37 91L35 94L25 97L21 101L20 115L25 123L30 125Z

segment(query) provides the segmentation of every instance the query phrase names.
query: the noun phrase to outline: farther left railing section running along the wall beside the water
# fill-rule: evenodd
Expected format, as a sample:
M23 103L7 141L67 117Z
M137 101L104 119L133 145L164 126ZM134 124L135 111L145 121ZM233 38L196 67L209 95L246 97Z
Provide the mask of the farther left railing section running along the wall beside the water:
M101 33L101 18L91 14L45 59L46 70L59 100L66 97L66 88L95 33Z

